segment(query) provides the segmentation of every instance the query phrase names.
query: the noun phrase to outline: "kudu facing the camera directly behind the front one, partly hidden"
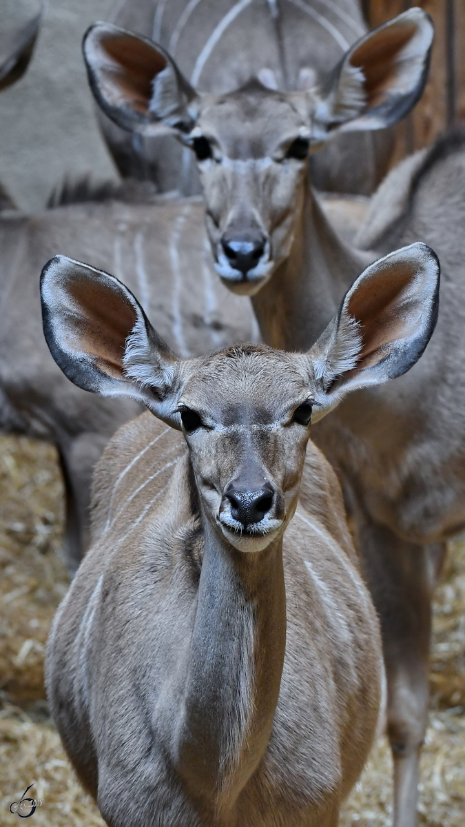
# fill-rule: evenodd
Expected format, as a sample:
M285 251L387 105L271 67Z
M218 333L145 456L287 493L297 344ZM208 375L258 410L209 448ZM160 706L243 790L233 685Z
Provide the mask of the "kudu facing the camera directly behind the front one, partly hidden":
M195 93L149 41L103 25L90 31L89 75L108 114L148 133L160 118L193 146L218 273L234 292L252 295L273 346L309 347L374 258L343 245L325 220L307 175L309 149L340 129L379 128L405 114L423 86L432 36L429 17L413 8L354 45L327 88L279 93L248 84L213 97ZM457 220L460 240L443 231L437 237L436 215L419 227L424 241L438 244L448 272L445 310L426 359L394 385L355 394L315 429L342 476L381 616L398 827L416 820L432 570L444 538L465 523L463 371L451 356L465 350L456 254L463 179L454 186L443 221ZM411 224L402 238L415 240L416 229Z

